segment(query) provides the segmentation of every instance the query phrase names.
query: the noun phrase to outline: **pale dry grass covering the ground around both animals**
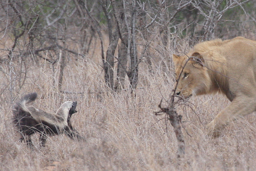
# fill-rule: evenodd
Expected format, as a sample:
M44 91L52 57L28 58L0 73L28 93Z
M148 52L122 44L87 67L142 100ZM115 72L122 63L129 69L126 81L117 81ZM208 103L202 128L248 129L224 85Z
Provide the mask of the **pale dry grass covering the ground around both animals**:
M219 171L255 170L256 125L255 115L231 123L222 137L211 140L204 135L204 126L228 101L222 96L202 96L191 100L190 107L181 106L178 113L186 122L186 155L176 158L176 138L164 116L154 116L161 98L168 98L173 86L171 78L147 72L140 65L140 82L137 96L123 91L112 94L103 84L100 60L70 59L65 68L63 90L84 92L54 96L51 66L44 61L38 64L27 61L27 78L19 86L18 65L2 64L0 71L0 170L2 171ZM21 75L22 76L22 75ZM13 84L13 85L12 85ZM12 87L11 87L12 85ZM11 88L10 88L11 87ZM5 89L5 90L4 90ZM39 148L38 136L33 137L35 150L18 142L18 134L11 124L11 107L14 101L27 92L36 91L40 98L35 105L47 112L55 112L66 100L78 101L79 112L73 124L87 142L70 140L65 135L50 137L46 148ZM17 97L17 98L15 98ZM202 122L202 123L201 123Z

